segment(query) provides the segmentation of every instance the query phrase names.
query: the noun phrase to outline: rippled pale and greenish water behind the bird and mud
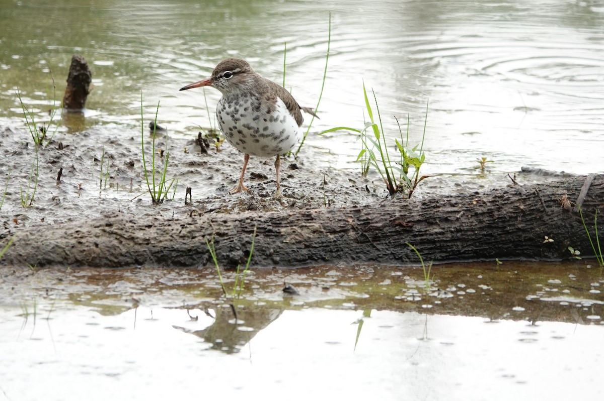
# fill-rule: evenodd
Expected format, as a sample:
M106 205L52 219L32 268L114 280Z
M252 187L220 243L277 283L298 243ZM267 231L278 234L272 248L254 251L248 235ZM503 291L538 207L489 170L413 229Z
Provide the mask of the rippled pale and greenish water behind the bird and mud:
M473 171L486 156L495 173L538 166L603 171L604 4L597 1L7 1L0 8L0 122L20 124L26 103L48 109L52 69L62 98L71 55L93 69L87 124L138 124L141 90L149 118L194 136L213 124L219 98L178 92L227 56L282 80L301 104L321 89L332 14L329 73L312 133L362 127L362 83L373 88L385 129L411 120L426 172ZM52 96L50 97L52 98ZM112 135L115 133L112 132ZM322 163L349 167L353 134L309 139Z

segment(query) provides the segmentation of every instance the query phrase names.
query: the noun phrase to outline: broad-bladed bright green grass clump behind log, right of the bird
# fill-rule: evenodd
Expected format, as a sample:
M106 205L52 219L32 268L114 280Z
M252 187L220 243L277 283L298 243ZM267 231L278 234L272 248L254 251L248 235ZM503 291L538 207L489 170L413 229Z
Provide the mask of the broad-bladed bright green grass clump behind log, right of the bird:
M396 139L396 147L397 150L399 150L399 162L393 163L390 158L390 153L388 153L388 144L384 133L384 126L382 125L382 116L379 112L376 94L373 89L371 89L371 93L373 93L373 99L376 106L377 120L374 118L373 109L367 96L367 89L365 83L363 83L365 109L369 116L369 121L365 122L365 127L360 130L350 127L335 127L323 131L320 134L339 130L359 133L359 137L361 138L361 151L356 160L361 162L361 173L367 175L370 166L373 166L381 175L382 180L384 180L390 195L406 192L406 197L411 198L417 185L425 180L425 178L428 178L428 175L420 176L419 174L420 168L426 159L426 154L423 151L423 142L426 137L426 124L428 122L428 104L426 104L426 118L423 126L421 146L416 145L414 148L409 146L409 118L407 117L406 136L403 137L403 131L400 127L399 120L394 117L399 127L400 141L399 139ZM367 133L370 128L373 135ZM418 147L419 151L417 150ZM396 164L398 164L398 166ZM410 174L411 167L413 167L413 174Z

